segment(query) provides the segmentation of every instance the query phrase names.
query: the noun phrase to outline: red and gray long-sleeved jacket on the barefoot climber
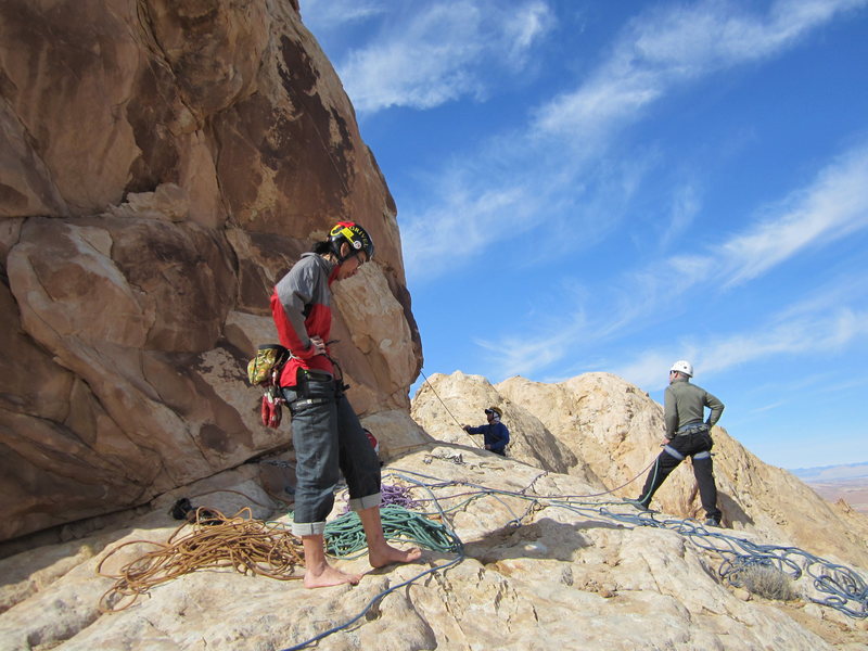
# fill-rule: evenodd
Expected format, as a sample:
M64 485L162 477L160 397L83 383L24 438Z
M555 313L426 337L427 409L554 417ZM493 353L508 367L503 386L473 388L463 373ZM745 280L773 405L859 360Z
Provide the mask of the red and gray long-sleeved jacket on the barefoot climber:
M271 294L271 315L280 344L292 358L280 374L281 386L295 386L298 369L333 373L326 355L315 354L312 336L329 341L332 329L331 290L337 265L316 253L305 253Z

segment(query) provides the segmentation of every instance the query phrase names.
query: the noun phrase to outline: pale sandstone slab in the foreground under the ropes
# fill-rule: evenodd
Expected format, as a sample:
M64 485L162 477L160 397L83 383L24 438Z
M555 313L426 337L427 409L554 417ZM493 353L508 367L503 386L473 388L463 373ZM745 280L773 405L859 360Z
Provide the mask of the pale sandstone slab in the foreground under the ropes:
M149 550L142 541L165 541L177 527L166 514L175 493L123 526L0 561L10 577L0 590L3 648L277 650L356 617L316 648L855 651L868 643L861 622L810 602L810 578L793 582L796 597L786 602L733 588L718 574L723 557L701 538L612 518L629 507L562 497L595 492L576 476L427 444L392 459L383 481L411 489L435 520L438 505L463 553L429 550L418 564L374 571L365 558L337 560L368 574L356 587L319 590L201 571L152 588L126 610L100 612L113 584L97 575L100 561L138 541L111 559L106 569L116 570ZM255 518L288 522L285 507L267 507L252 464L186 490L225 513L248 506ZM762 532L738 535L774 542Z

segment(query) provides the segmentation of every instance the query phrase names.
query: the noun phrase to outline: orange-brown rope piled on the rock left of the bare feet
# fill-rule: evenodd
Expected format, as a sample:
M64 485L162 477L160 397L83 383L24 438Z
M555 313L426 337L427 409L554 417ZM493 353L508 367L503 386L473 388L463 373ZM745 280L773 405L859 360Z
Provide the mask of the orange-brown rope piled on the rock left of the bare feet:
M281 527L254 520L247 507L232 518L200 507L193 531L178 537L187 524L175 529L165 544L130 540L106 553L97 573L114 578L115 584L100 598L100 611L126 610L152 587L197 570L232 567L241 574L278 580L301 578L294 575L295 567L304 565L298 539ZM105 562L130 545L156 549L126 563L117 573L104 572Z

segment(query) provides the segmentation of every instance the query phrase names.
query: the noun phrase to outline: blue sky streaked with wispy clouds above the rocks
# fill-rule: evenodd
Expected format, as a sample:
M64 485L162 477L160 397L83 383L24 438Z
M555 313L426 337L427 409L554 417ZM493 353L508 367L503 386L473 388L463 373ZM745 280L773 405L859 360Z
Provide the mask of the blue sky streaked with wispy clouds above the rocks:
M868 460L868 0L302 17L397 203L426 375L662 401L689 359L766 462Z

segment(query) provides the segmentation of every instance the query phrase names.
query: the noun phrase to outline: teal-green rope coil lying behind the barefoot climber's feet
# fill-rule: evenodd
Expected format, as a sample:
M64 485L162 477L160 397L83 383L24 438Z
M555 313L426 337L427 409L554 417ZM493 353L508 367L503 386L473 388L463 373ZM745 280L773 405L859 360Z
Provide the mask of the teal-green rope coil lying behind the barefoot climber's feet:
M461 549L461 541L445 525L404 507L383 507L380 509L380 519L386 540L409 540L425 549L442 552ZM324 538L326 551L336 558L347 558L368 546L361 521L353 511L329 522Z

